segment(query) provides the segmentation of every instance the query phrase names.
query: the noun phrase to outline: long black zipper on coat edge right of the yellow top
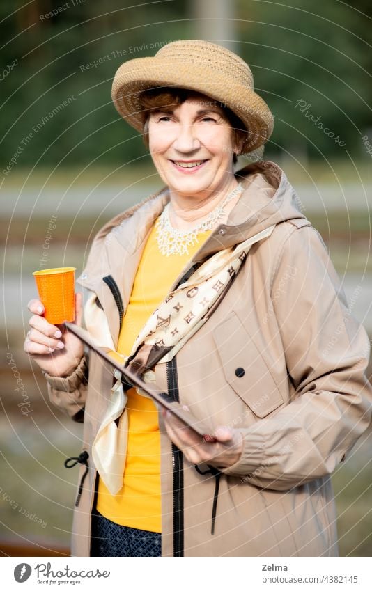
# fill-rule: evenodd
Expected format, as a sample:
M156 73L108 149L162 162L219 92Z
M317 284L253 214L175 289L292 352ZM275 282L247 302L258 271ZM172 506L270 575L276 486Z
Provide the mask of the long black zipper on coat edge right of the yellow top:
M166 363L166 384L168 394L176 402L180 402L178 391L176 357ZM173 556L183 556L184 552L184 499L183 499L183 452L174 443L172 447L173 466Z

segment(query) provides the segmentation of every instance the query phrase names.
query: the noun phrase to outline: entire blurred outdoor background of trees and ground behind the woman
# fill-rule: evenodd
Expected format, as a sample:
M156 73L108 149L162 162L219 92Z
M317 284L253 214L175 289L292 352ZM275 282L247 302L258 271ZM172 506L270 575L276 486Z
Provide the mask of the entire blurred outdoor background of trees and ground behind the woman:
M45 253L47 266L81 271L100 226L162 186L141 136L111 102L124 61L151 56L172 40L203 38L249 63L275 116L265 158L284 168L371 338L372 5L293 4L2 1L3 555L22 548L26 555L68 553L77 472L63 461L78 455L82 437L82 426L49 404L38 368L23 353L31 272ZM18 406L24 398L15 367L27 415ZM371 449L369 430L334 473L341 555L371 555Z

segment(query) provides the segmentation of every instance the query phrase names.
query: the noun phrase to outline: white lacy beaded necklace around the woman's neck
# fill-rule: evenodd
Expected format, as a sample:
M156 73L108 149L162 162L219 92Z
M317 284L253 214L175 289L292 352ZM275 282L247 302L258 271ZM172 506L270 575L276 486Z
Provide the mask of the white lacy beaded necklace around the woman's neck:
M177 230L171 225L169 219L169 207L171 203L167 203L157 221L156 239L157 245L162 255L184 255L189 253L189 246L199 242L197 235L200 232L212 230L217 221L224 216L224 207L229 201L236 197L243 191L242 184L238 184L231 193L229 193L221 203L217 205L215 210L212 210L208 217L191 230Z

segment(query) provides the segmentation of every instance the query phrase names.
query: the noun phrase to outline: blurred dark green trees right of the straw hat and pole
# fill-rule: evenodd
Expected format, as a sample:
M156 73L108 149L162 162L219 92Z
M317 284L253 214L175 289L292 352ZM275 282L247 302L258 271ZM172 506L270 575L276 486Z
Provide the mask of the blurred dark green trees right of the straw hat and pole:
M345 150L362 154L361 132L371 120L369 19L339 1L237 2L240 55L276 116L274 144L267 151L276 152L279 145L311 157L326 152L343 158ZM307 108L301 111L302 105Z

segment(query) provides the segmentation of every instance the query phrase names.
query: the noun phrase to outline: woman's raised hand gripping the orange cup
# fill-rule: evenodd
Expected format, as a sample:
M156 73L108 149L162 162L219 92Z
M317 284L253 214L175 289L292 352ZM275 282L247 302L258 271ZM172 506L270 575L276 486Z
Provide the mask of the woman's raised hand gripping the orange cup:
M71 375L84 355L82 341L68 331L64 324L49 324L43 317L44 306L38 299L31 299L27 306L33 313L30 330L24 341L24 351L39 367L50 375ZM82 325L82 294L75 295L75 324Z

